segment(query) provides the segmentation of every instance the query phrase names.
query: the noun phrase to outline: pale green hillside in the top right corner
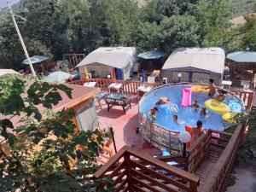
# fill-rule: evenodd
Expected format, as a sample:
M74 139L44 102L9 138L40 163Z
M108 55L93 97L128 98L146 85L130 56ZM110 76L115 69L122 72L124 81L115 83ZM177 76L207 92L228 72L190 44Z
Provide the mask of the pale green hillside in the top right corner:
M228 2L235 8L234 17L236 17L251 13L256 0L228 0Z

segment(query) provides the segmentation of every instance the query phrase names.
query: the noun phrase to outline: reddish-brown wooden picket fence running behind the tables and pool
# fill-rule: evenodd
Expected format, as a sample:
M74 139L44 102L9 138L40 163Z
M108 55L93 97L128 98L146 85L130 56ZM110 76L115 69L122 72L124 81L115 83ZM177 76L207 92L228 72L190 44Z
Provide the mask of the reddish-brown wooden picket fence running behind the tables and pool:
M68 84L79 84L83 85L86 82L96 82L96 86L101 88L102 91L108 91L108 85L112 83L121 83L123 84L122 92L129 93L132 95L137 95L137 88L143 84L151 86L153 88L159 87L163 84L150 84L150 83L142 83L140 81L125 81L125 80L113 80L113 79L80 79L71 82L67 82ZM236 96L238 96L244 103L245 107L248 110L251 110L253 105L253 91L246 90L230 90Z

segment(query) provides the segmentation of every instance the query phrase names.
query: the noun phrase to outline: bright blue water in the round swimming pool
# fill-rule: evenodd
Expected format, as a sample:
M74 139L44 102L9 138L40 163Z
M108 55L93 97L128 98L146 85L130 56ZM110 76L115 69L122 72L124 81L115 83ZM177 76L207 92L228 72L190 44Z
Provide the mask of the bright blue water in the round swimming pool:
M154 108L154 103L157 102L160 97L166 96L171 103L157 106L160 108L160 112L156 113L155 123L157 125L172 131L184 131L185 125L195 126L196 121L201 120L204 129L223 131L230 127L231 124L222 119L222 114L214 113L210 109L207 109L207 117L200 115L201 107L204 107L204 103L208 99L211 99L207 93L192 93L192 103L195 100L198 100L200 104L200 109L198 112L195 112L191 107L183 108L181 106L182 90L183 88L189 88L191 86L193 86L193 84L166 85L148 92L147 95L143 96L140 102L140 112L142 112L145 117L150 119L148 110ZM232 96L228 93L225 96L224 103L229 105L229 102L238 102L240 103L241 108L244 109L243 103L237 99L236 96ZM177 114L179 124L173 121L173 114Z

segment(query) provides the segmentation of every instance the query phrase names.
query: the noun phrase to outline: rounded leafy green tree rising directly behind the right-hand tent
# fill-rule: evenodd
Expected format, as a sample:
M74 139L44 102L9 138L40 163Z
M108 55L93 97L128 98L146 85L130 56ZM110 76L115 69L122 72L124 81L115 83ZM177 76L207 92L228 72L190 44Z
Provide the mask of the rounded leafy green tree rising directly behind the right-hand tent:
M171 53L178 47L194 47L198 45L198 25L193 16L172 16L160 23L160 48Z

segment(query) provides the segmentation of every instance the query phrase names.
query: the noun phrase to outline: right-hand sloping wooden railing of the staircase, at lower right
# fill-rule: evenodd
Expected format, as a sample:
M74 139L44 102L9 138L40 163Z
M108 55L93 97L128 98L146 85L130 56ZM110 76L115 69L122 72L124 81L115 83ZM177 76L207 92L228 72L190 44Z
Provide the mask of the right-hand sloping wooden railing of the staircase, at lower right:
M219 157L217 163L212 168L211 174L201 189L202 192L221 192L224 191L224 183L230 175L232 166L236 159L236 149L244 133L244 125L238 125L230 137L229 143L224 148L224 152Z

